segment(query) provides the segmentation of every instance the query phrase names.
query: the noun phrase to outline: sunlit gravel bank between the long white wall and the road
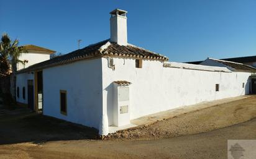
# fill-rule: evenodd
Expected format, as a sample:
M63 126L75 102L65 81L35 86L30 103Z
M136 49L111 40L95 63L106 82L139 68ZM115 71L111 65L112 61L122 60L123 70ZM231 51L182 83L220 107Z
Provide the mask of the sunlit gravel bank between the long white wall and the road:
M256 97L215 105L149 126L139 126L107 135L104 139L160 139L207 132L256 118Z

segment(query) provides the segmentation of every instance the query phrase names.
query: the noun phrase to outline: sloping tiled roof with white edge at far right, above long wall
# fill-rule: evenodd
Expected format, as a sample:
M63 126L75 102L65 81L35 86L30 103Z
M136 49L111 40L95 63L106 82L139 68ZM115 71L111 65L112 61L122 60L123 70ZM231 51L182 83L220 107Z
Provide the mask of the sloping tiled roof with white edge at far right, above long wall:
M212 59L212 58L209 58ZM252 66L248 66L246 64L241 64L237 62L231 62L231 61L224 61L220 59L212 59L213 61L219 62L221 64L224 64L226 66L232 67L234 71L242 71L242 72L256 72L256 68Z

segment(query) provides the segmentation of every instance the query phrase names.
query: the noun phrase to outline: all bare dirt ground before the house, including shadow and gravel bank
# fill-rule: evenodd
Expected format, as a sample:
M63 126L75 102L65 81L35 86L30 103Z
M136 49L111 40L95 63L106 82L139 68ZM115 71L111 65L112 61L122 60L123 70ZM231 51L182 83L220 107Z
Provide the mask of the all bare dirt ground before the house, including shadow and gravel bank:
M226 158L227 139L256 139L255 117L252 96L129 130L129 139L92 140L95 129L0 109L0 158Z

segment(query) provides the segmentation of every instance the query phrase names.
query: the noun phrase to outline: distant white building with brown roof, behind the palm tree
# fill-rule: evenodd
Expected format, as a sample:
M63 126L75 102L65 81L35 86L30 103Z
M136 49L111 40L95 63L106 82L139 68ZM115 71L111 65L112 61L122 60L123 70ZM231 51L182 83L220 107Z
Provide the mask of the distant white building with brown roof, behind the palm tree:
M24 45L24 47L27 50L27 53L22 53L19 60L24 61L25 64L17 64L17 70L27 68L42 61L47 61L50 59L50 54L56 52L35 45Z

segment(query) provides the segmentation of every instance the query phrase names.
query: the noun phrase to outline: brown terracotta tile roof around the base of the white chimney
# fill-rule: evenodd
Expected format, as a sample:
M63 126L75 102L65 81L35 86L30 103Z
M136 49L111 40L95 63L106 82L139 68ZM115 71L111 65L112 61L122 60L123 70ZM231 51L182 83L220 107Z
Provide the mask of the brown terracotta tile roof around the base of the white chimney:
M25 69L21 69L18 73L35 71L37 69L43 69L46 67L57 66L60 64L67 64L70 62L90 59L90 58L99 58L103 56L119 56L127 58L140 58L140 59L154 59L167 61L166 56L153 53L147 49L139 48L134 45L120 46L116 43L110 43L109 40L104 40L93 45L86 46L83 49L77 49L71 53L58 56L47 61L34 64Z

